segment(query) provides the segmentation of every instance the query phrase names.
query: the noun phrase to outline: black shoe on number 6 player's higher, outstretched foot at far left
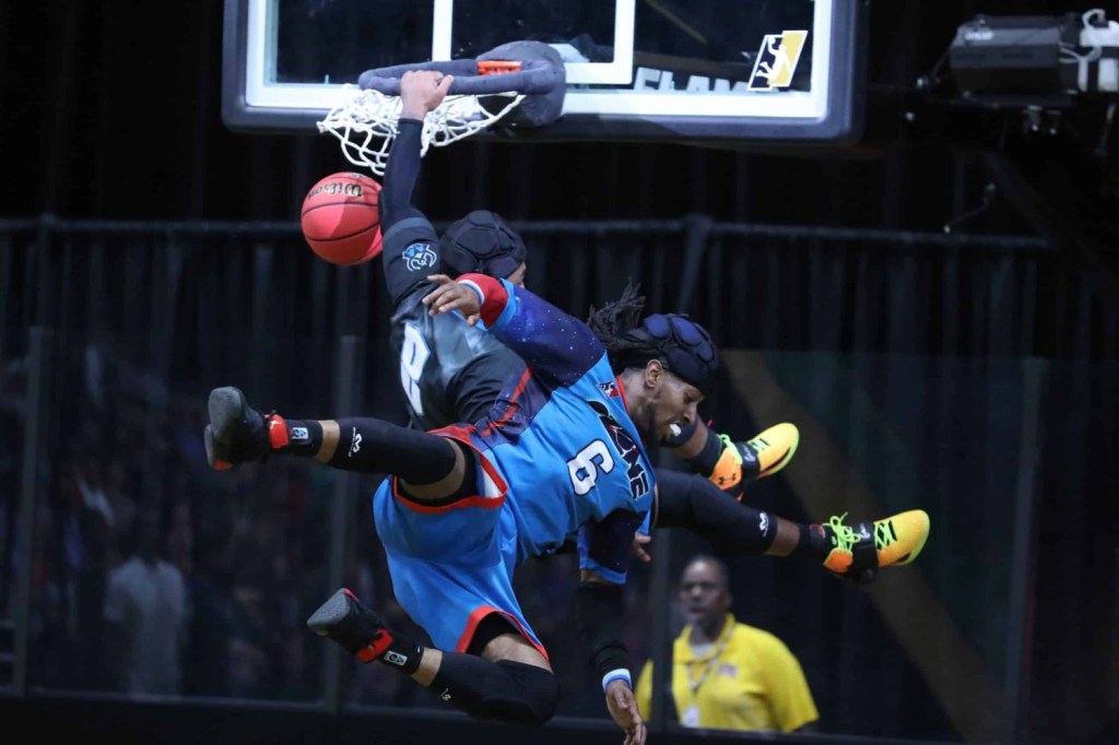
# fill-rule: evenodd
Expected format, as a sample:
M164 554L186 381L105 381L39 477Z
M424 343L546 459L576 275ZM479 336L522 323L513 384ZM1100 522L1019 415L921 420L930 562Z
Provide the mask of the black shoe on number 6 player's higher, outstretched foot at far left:
M204 433L206 460L218 471L267 455L270 426L273 423L284 426L282 418L264 416L250 406L245 394L233 386L210 392L209 416Z

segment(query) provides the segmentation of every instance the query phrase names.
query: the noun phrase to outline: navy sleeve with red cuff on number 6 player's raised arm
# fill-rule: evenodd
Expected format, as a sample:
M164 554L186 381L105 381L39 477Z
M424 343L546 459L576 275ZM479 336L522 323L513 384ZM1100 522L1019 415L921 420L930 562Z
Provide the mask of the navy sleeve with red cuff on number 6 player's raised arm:
M482 326L517 352L545 386L567 386L606 350L586 323L533 292L485 274L463 274L481 298Z

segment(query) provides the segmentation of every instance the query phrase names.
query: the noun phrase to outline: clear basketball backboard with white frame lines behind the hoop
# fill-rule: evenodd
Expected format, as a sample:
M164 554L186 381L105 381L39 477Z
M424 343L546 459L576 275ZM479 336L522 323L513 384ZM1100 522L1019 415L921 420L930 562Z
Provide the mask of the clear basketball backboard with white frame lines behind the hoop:
M314 131L370 68L515 40L564 58L556 140L838 142L862 126L862 0L226 0L223 119ZM479 136L508 136L483 132Z

